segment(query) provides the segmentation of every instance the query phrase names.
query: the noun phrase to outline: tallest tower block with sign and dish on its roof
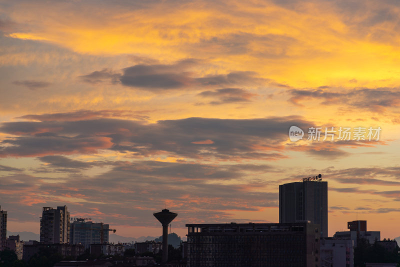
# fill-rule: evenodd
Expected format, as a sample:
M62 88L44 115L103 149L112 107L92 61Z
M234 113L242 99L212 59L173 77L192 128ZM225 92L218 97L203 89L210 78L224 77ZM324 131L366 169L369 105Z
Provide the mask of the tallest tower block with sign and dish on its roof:
M321 237L327 237L328 185L320 178L279 185L279 223L305 220L319 224Z

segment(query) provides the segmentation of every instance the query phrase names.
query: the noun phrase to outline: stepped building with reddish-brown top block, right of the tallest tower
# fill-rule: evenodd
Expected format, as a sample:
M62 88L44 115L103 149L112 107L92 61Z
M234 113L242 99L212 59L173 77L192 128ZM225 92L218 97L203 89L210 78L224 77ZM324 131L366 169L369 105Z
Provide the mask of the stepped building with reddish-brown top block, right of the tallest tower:
M361 225L361 226L354 226ZM337 231L333 235L335 239L348 239L352 240L354 247L357 246L357 239L364 238L368 240L369 243L374 243L375 241L380 241L380 231L367 231L366 230L366 220L362 221L348 221L347 228L349 231Z

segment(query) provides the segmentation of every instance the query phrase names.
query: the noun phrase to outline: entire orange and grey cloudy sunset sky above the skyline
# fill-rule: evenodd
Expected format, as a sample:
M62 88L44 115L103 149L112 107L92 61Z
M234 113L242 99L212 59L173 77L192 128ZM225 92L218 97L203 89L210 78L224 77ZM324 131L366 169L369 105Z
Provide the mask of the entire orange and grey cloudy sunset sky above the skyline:
M321 173L329 236L363 219L397 237L399 85L395 0L0 0L7 229L64 204L132 237L160 235L164 207L182 236L277 222L278 185Z

